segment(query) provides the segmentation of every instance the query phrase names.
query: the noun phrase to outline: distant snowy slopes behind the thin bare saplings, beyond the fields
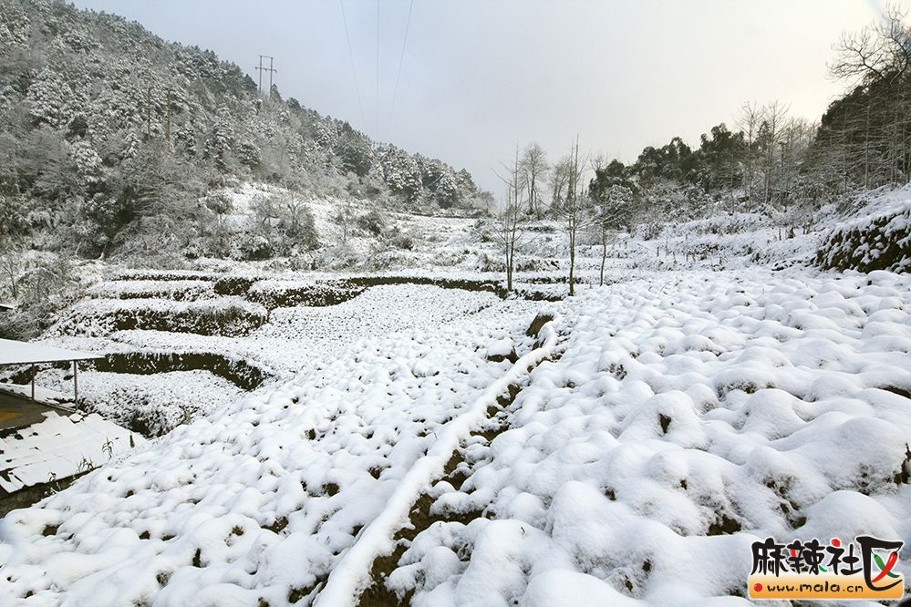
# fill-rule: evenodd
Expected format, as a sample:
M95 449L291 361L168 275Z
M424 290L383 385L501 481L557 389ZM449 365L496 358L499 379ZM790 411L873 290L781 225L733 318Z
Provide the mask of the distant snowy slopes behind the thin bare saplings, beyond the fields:
M274 186L245 183L226 190L237 215L233 221L249 221L251 204L257 196L287 197L291 194ZM306 262L321 269L348 272L423 272L502 273L500 246L492 239L492 219L475 216L433 216L383 211L386 223L379 234L358 229L349 223L347 242L339 222L342 202L332 199L308 201L316 231L324 234L323 246L310 253ZM347 212L357 218L376 207L368 201L352 203ZM657 221L639 225L632 233L616 232L608 246L607 278L626 275L630 270L685 270L688 268L734 269L756 264L785 267L815 265L817 254L831 244L837 231L868 229L877 221L891 220L888 234L896 245L907 247L911 212L911 186L882 188L849 197L841 206L830 205L814 221L794 226L786 211L721 211L709 218L693 221ZM897 218L897 219L895 219ZM601 244L594 225L584 224L578 233L576 263L583 282L595 282L601 263ZM522 280L565 280L568 270L569 242L564 221L541 217L523 220L516 255L517 274ZM384 234L407 236L407 249L396 246ZM886 241L879 243L885 254ZM870 242L866 250L875 250ZM906 255L908 253L905 253ZM254 272L300 272L300 260L275 259L268 262L226 262L201 259L200 270L236 271L243 267ZM850 264L847 267L851 267ZM844 269L844 268L839 268ZM439 272L438 272L439 273ZM502 277L501 277L502 279Z

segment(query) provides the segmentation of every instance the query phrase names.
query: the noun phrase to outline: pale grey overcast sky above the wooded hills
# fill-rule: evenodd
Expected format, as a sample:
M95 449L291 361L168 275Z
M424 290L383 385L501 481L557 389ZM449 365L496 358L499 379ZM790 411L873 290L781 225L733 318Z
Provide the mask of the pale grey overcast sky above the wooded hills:
M492 169L516 144L556 159L581 147L636 159L674 136L690 144L745 101L779 99L816 119L844 83L826 76L845 29L881 0L78 0L168 40L211 48L256 79L275 57L282 95L409 151ZM379 103L377 104L377 73ZM377 124L379 107L379 124Z

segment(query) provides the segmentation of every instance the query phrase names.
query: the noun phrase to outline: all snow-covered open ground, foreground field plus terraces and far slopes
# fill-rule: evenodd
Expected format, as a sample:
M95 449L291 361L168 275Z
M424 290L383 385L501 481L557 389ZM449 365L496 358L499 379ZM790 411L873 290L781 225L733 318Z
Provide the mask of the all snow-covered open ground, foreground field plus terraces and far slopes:
M603 287L586 245L554 303L477 290L473 221L409 221L373 274L405 283L202 261L61 314L121 357L90 408L164 436L0 521L0 604L740 604L756 540L911 544L911 277L809 267L837 221L621 235ZM528 293L565 292L557 228Z

